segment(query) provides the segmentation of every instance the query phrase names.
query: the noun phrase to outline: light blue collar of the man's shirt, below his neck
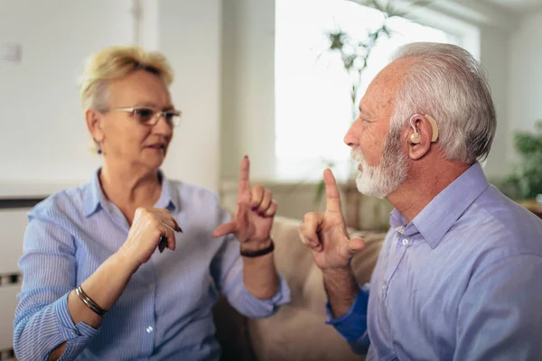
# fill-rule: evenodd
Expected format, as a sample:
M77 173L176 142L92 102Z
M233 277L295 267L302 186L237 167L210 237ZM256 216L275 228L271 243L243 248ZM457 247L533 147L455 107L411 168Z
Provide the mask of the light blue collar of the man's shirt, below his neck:
M435 248L457 219L488 187L489 182L480 163L475 162L425 206L410 224L406 225L406 218L397 209L391 212L389 223L406 236L419 232Z

